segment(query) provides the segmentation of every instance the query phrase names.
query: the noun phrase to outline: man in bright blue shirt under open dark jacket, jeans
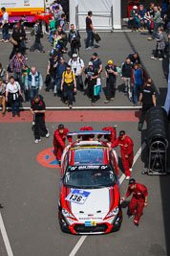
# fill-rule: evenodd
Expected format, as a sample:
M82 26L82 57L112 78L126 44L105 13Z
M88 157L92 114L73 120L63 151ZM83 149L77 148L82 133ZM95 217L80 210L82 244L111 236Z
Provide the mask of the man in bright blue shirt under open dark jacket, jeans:
M146 74L143 68L139 67L138 63L134 64L131 71L131 85L133 87L133 101L134 105L138 105L138 95L143 88L146 81Z

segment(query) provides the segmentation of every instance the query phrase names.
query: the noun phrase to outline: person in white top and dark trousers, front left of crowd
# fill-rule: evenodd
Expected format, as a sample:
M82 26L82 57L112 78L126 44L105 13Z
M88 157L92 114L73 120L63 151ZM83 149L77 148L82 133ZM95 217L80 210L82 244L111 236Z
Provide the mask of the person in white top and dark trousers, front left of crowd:
M21 87L18 81L14 81L14 77L11 76L10 82L6 86L6 102L11 104L12 117L17 114L20 117L19 112L19 96L22 96Z

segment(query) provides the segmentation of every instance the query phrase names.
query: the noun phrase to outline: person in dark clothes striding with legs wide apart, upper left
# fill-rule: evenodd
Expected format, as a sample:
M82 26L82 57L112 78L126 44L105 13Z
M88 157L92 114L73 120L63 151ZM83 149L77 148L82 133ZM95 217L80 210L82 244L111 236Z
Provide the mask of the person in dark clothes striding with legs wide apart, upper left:
M45 51L43 50L43 46L41 44L41 38L43 37L43 33L38 19L35 21L35 25L33 27L33 35L35 35L35 40L32 47L30 48L30 51L34 52L34 50L37 49L40 53L44 54Z

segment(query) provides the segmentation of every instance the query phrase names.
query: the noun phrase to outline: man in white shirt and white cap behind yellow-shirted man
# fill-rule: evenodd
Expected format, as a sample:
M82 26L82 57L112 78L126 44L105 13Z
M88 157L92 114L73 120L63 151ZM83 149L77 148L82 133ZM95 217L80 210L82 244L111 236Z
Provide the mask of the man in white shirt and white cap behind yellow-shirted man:
M74 72L76 88L83 91L82 73L84 71L84 61L82 58L79 58L77 54L74 54L73 58L69 60L68 64L71 66L72 71Z

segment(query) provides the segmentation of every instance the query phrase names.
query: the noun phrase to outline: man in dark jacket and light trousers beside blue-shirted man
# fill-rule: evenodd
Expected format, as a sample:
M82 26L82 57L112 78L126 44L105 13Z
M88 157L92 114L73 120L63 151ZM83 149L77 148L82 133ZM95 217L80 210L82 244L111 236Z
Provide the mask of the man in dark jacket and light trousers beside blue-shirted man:
M125 84L125 92L124 95L128 96L129 101L132 102L132 86L131 86L131 72L133 69L133 64L131 63L130 58L126 58L126 61L124 61L121 65L121 79L124 81Z

